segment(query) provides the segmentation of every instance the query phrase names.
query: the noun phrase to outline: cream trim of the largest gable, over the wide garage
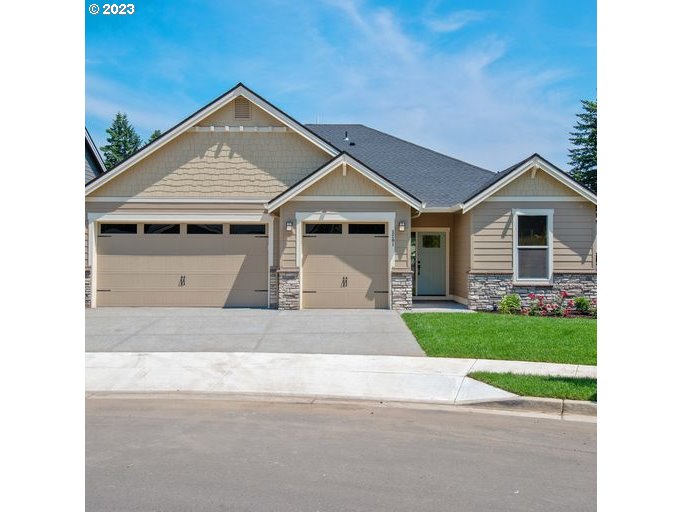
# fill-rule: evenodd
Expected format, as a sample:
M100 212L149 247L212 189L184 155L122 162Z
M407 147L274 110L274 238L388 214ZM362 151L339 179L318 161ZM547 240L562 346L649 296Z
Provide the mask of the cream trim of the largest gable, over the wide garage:
M175 139L180 134L187 131L189 128L194 126L196 123L200 122L202 119L208 117L221 107L225 106L227 103L237 98L238 96L243 96L254 105L260 107L262 110L273 116L275 119L280 121L282 124L286 125L288 128L308 139L310 142L321 148L323 151L327 152L330 156L336 156L340 153L340 150L334 147L332 144L322 139L319 135L313 133L305 125L296 121L293 117L274 106L272 103L267 101L262 96L256 94L251 89L246 87L244 84L239 82L232 89L217 97L206 106L200 108L193 114L190 114L185 119L180 121L178 124L172 128L166 130L161 134L154 142L143 146L135 153L130 155L128 158L120 162L116 167L102 175L96 177L95 179L88 182L85 186L85 194L89 194L94 190L98 189L117 175L128 170L130 167L135 165L137 162L150 155L157 149L163 147L165 144Z

